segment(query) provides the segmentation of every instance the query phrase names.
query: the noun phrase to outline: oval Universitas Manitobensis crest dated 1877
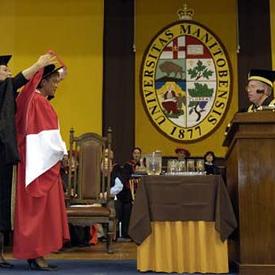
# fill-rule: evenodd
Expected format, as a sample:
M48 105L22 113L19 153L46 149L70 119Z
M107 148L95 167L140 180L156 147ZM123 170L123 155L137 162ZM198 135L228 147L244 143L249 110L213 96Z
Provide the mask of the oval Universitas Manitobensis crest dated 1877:
M203 25L180 20L163 28L143 57L141 93L153 124L182 142L217 129L231 99L232 71L219 39Z

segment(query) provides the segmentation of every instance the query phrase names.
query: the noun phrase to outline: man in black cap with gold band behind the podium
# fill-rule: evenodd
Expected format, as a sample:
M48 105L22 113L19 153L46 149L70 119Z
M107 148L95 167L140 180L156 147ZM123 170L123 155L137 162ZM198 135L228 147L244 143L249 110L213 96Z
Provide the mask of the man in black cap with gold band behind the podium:
M275 109L275 99L273 96L274 80L275 71L250 71L246 91L248 100L252 104L248 107L248 112L255 112L263 108Z

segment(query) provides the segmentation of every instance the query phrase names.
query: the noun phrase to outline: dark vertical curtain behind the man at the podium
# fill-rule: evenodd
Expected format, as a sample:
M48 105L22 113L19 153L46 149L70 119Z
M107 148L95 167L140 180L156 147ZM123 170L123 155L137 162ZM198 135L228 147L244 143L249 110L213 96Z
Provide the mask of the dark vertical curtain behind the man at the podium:
M245 92L250 69L272 69L269 0L239 0L239 110L250 105Z

